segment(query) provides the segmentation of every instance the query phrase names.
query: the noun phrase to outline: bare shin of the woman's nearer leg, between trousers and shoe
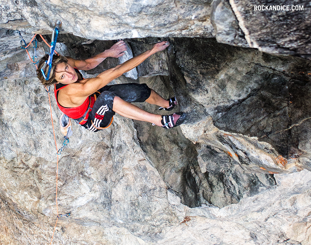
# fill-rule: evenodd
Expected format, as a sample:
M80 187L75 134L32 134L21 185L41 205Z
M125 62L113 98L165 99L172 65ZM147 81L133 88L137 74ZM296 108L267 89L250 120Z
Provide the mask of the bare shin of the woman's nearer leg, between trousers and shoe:
M114 97L114 104L113 104L112 110L126 118L131 118L134 120L144 121L144 122L151 122L158 126L162 126L161 115L156 115L156 114L146 112L140 109L139 107L137 107L136 105L128 103L117 96Z

